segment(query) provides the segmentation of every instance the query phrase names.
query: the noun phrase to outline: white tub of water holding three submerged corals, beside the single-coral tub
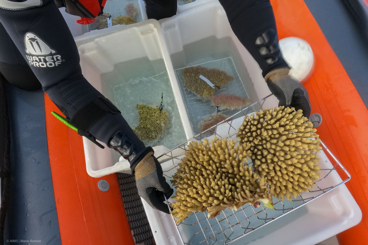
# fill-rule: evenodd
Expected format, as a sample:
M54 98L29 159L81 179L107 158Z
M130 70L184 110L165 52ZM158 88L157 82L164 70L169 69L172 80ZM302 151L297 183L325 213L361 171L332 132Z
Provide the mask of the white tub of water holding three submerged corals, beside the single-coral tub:
M235 79L215 92L234 94L256 102L269 95L259 65L240 43L232 31L226 13L218 1L199 6L174 17L160 20L171 63L180 85L180 94L191 121L192 136L200 130L201 118L216 113L211 103L201 102L184 88L181 72L184 67L198 66L219 68ZM277 105L275 97L265 106ZM260 108L254 108L259 110ZM231 116L238 110L222 110Z

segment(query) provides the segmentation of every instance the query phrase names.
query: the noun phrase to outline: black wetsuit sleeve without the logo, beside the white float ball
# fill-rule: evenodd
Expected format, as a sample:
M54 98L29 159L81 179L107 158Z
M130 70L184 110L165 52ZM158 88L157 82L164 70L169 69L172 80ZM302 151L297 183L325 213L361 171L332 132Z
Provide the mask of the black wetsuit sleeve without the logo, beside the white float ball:
M288 67L279 50L275 15L269 0L219 0L231 28L257 61L263 77Z

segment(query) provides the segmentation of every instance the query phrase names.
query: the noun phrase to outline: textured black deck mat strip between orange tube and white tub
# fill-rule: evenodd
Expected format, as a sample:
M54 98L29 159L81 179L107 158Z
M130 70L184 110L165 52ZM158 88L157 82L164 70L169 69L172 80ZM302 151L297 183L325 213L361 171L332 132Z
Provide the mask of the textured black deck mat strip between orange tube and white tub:
M134 177L117 173L125 212L136 244L151 245L153 234L144 211L141 197L138 195Z

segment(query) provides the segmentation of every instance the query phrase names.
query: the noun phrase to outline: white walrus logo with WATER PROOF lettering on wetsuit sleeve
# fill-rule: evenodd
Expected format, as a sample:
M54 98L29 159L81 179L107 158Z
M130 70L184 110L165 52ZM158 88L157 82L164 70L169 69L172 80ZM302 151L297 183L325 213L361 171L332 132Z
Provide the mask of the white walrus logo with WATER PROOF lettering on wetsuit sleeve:
M35 33L27 32L24 37L25 52L29 65L34 67L55 67L63 60L56 50L52 49Z

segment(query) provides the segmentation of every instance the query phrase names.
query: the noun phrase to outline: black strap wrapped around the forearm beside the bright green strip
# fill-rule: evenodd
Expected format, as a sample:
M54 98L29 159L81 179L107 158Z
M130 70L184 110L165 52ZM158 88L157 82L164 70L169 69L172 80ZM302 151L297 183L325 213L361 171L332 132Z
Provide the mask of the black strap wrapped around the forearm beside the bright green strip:
M82 107L70 121L72 125L77 127L78 133L88 132L89 129L107 113L120 113L116 106L105 97L97 97L90 103Z

